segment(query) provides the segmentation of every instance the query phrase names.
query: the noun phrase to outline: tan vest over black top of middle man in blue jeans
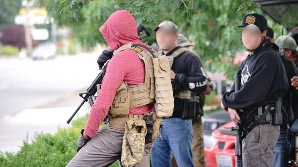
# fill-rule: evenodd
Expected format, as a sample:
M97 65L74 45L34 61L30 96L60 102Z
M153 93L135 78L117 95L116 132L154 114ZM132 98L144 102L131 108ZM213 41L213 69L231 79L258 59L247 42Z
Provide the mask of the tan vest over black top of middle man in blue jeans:
M189 51L188 49L182 47L182 48L179 48L176 51L174 51L171 56L166 56L168 63L170 65L170 68L172 68L175 57L180 56L188 51ZM159 54L159 55L161 55L161 54ZM194 96L195 96L194 92L191 92L189 90L182 90L178 95L175 95L174 97L181 98L181 99L194 99Z

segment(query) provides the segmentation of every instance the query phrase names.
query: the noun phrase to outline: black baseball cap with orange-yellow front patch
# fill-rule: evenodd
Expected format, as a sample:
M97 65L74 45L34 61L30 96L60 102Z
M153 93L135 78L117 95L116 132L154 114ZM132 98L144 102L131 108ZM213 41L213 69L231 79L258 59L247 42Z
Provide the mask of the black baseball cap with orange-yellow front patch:
M256 25L257 27L259 27L261 31L268 29L267 19L258 13L251 13L245 15L242 20L242 25L238 27L246 27L248 24Z

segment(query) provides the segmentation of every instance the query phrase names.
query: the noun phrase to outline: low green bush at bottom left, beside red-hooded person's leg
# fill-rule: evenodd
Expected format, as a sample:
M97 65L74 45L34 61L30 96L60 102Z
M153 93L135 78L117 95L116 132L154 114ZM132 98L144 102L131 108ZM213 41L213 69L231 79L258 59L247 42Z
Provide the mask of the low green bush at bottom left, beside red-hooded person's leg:
M76 141L87 118L73 120L71 128L58 128L55 134L36 133L35 140L24 140L17 153L0 153L0 167L65 167L76 154ZM118 167L117 162L110 167Z

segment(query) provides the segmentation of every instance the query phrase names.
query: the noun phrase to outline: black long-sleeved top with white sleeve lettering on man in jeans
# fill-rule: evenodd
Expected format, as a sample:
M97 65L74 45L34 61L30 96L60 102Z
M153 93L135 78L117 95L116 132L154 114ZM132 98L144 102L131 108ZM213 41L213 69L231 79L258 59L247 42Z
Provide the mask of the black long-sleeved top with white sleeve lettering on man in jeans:
M181 47L174 48L166 56L172 55L179 48ZM203 64L196 54L185 52L180 56L174 57L172 70L176 73L174 82L178 85L178 90L187 89L198 93L206 91L208 80L203 70ZM172 117L181 117L183 106L183 100L175 98Z

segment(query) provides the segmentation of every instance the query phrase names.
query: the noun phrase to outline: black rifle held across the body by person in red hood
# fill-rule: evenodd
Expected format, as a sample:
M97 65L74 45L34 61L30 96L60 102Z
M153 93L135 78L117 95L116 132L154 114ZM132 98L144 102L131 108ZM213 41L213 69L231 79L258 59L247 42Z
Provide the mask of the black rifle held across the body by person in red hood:
M140 35L142 32L145 33L144 36L140 37L140 40L143 40L144 38L149 37L151 34L150 32L142 25L142 24L138 24L137 26L137 30L138 30L138 35ZM112 52L111 49L108 50L109 52ZM94 104L94 95L97 91L97 84L101 84L101 81L103 79L103 76L105 74L105 69L101 69L101 71L99 72L99 74L97 75L97 77L94 79L94 81L92 82L92 84L89 86L89 88L87 89L87 91L85 93L80 93L79 96L81 98L83 98L84 100L80 103L80 105L76 108L76 110L74 111L74 113L72 114L72 116L67 120L66 123L70 123L72 121L72 119L74 118L74 115L76 114L76 112L83 106L83 104L85 102L90 102L90 105L92 107L92 105ZM85 95L85 96L83 96Z

